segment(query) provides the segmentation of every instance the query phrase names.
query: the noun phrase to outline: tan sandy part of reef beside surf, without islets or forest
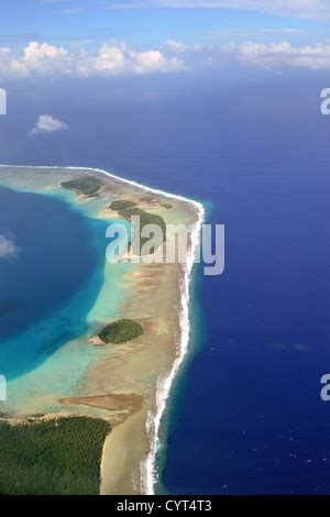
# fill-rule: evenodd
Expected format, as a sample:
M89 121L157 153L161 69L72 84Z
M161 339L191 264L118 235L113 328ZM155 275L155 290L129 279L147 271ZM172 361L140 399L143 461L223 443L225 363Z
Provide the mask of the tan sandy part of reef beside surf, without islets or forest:
M82 176L101 180L97 197L81 196L61 187L62 182ZM160 215L166 223L195 224L195 239L202 218L201 207L198 209L189 200L147 191L142 186L92 169L3 167L0 168L0 185L48 195L59 193L65 201L76 204L89 217L108 221L118 218L109 210L109 205L113 200L129 199L144 210ZM145 200L146 195L150 200ZM169 202L172 208L164 209L164 202ZM191 257L195 244L191 242ZM43 366L20 380L21 389L24 385L32 386L31 414L37 409L47 414L92 415L109 420L112 430L105 442L101 463L100 492L103 495L153 492L153 463L161 417L188 343L191 265L193 262L187 267L178 263L127 265L120 280L121 304L107 317L101 307L111 296L107 283L117 265L106 262L105 284L91 311L90 327L98 329L116 318L130 318L142 324L143 336L116 345L101 344L95 340L96 336L67 343L57 352L59 364L61 354L64 356L74 346L92 346L97 355L90 367L81 372L70 393L62 397L37 387ZM11 408L15 416L30 415L25 403L26 396L22 400L16 397L16 405Z

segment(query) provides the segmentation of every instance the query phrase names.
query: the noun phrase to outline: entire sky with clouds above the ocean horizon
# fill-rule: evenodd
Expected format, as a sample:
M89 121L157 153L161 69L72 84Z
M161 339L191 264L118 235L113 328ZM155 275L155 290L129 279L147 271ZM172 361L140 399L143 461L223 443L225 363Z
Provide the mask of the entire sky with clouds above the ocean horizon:
M324 70L329 21L330 0L2 0L0 77Z

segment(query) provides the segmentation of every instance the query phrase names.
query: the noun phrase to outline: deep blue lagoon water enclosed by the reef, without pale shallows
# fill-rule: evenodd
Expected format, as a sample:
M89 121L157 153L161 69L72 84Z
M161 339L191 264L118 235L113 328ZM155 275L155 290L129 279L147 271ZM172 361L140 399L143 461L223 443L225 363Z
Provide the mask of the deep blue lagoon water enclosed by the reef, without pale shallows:
M0 370L8 380L86 330L102 282L97 242L103 230L50 196L0 187L0 234L19 250L0 258ZM70 319L64 318L63 307L90 279L79 312L72 307Z

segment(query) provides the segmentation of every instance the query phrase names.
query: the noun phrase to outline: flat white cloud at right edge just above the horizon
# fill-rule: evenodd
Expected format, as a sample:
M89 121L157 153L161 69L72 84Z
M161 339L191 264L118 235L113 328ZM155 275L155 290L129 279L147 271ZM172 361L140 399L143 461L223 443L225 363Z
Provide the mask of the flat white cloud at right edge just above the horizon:
M235 54L241 61L265 68L330 69L330 40L310 45L295 46L288 42L231 44L223 51Z

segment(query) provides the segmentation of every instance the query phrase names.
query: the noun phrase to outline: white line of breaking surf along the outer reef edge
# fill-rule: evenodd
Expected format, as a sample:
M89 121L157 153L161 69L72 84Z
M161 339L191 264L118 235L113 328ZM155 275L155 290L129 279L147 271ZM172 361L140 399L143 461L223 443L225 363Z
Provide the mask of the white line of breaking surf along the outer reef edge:
M168 199L176 199L178 201L188 204L195 213L197 213L197 221L195 222L194 233L191 234L191 244L189 254L187 256L187 263L182 267L182 274L179 275L179 292L180 292L180 314L179 314L179 329L180 337L179 343L175 343L175 360L173 362L170 371L166 376L160 376L156 383L156 413L147 411L146 418L146 432L150 442L150 450L146 458L143 458L140 463L140 492L144 495L153 495L155 493L155 485L157 483L157 469L156 469L156 455L160 447L160 430L162 421L167 407L167 400L170 395L173 383L179 373L180 366L186 359L189 349L190 339L190 289L193 280L193 270L195 263L195 256L197 246L199 244L199 237L202 222L205 220L205 207L202 204L185 198L179 195L166 193L156 188L147 187L138 182L129 180L106 172L99 168L92 167L74 167L74 166L24 166L24 165L0 165L1 168L23 168L23 169L62 169L62 170L87 170L97 174L108 176L119 183L130 185L139 188L145 193L151 193L157 196L162 196ZM130 418L127 420L129 421ZM110 440L111 435L107 438L103 448L102 464L105 463L105 450L107 449L106 443Z

